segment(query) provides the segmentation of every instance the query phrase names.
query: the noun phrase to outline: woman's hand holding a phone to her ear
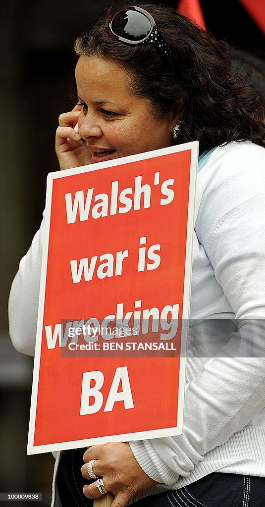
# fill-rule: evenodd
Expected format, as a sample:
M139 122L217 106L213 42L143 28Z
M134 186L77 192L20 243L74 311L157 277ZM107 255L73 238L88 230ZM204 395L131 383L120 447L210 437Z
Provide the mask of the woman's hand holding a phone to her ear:
M88 149L75 130L81 110L82 105L77 104L72 111L59 116L59 127L55 135L55 152L60 169L91 164Z

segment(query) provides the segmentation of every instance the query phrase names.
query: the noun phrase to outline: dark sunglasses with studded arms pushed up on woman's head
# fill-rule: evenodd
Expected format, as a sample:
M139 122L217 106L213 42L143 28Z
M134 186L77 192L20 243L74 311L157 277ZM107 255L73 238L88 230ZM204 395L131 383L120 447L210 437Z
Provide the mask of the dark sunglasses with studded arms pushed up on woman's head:
M110 5L95 24L102 20L106 20L110 34L121 42L155 44L164 54L169 53L169 46L157 30L153 16L141 7L125 6L117 10Z

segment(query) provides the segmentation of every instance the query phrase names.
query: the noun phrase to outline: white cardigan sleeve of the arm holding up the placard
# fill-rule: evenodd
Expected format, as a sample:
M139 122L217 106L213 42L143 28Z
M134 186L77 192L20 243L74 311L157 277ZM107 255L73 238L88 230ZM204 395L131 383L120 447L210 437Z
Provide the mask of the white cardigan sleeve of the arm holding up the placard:
M206 204L211 209L209 200ZM204 454L265 406L265 196L248 198L220 216L214 227L202 229L200 241L239 319L239 331L187 385L183 434L130 442L146 474L168 486L188 476Z

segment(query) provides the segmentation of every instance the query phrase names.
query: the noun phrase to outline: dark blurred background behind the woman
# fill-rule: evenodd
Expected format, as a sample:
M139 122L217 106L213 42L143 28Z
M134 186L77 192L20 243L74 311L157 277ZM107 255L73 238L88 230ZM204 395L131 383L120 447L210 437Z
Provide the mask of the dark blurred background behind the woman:
M0 491L42 491L43 507L50 502L53 458L25 455L32 359L10 344L7 301L19 260L41 222L47 173L58 169L58 115L75 103L73 41L106 5L12 0L1 6ZM201 5L217 38L264 58L263 35L237 0Z

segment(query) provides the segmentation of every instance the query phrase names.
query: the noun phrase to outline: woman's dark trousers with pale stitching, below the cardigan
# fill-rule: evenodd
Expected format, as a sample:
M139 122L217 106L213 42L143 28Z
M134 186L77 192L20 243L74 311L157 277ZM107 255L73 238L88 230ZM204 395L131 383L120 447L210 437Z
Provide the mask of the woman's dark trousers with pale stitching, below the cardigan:
M82 492L88 484L81 475L85 450L62 454L57 474L62 507L93 507ZM142 498L134 507L265 507L265 478L213 472L184 488Z

